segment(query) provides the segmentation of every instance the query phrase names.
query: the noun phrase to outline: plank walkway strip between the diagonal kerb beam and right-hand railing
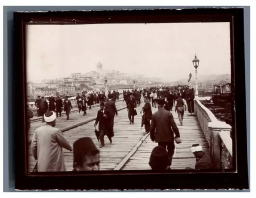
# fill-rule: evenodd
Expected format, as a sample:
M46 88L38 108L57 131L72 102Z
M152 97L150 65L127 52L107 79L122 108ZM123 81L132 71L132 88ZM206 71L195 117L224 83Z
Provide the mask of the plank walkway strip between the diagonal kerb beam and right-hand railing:
M153 109L154 110L154 109ZM194 168L196 159L191 153L192 144L200 144L203 151L209 153L208 142L202 132L199 122L195 116L188 116L188 112L184 114L183 126L180 126L178 114L172 112L174 120L180 130L181 144L175 144L176 153L172 160L172 169L185 169L186 166ZM150 154L157 143L150 140L150 136L142 142L141 146L134 155L124 165L122 170L148 170Z

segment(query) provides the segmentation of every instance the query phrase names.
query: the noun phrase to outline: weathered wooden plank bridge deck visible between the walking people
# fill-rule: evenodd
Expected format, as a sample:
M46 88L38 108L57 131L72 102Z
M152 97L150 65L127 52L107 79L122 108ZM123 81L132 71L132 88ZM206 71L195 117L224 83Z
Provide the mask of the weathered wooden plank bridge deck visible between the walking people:
M117 108L124 107L125 104L122 102L117 103ZM136 144L145 136L146 133L144 132L144 128L141 129L141 115L140 110L142 109L144 104L142 103L141 106L138 106L137 112L138 116L135 116L134 125L129 124L128 120L128 112L126 110L120 110L118 112L118 116L115 117L114 120L114 137L112 138L112 144L109 143L108 138L105 137L105 147L99 148L99 142L96 139L94 134L94 121L89 122L88 124L79 126L72 130L68 130L64 132L64 136L68 139L70 144L72 145L75 140L78 138L87 136L92 138L96 146L100 149L100 170L114 170L120 165L120 163L124 163L124 158L134 150ZM64 118L57 119L57 128L64 128L66 126L70 126L75 124L75 122L81 122L85 119L91 119L96 117L96 109L88 111L88 116L78 115L78 113L72 114L72 120L66 120ZM153 113L157 111L156 108L152 108ZM90 116L89 116L90 113ZM184 169L186 166L194 167L195 158L190 152L190 147L192 144L199 143L202 145L204 151L208 152L208 143L204 138L204 134L199 126L196 117L187 116L188 114L185 113L184 115L184 126L179 126L178 116L175 112L172 112L176 124L180 130L181 138L183 140L182 144L176 145L176 155L174 156L172 162L173 169ZM64 115L66 117L66 115ZM81 118L80 118L81 117ZM76 118L78 120L76 120ZM38 124L32 123L32 130L34 131L36 127L42 124L39 122ZM32 133L30 133L30 136ZM122 170L142 170L142 169L150 169L148 162L149 156L151 154L152 149L157 146L157 143L154 143L150 140L148 136L146 140L140 145L138 150L135 151L134 154L131 154L130 159L124 163L124 167ZM71 171L73 166L73 153L67 150L64 151L64 160L66 165L66 170ZM31 149L30 149L30 171L34 168L35 160L32 156Z

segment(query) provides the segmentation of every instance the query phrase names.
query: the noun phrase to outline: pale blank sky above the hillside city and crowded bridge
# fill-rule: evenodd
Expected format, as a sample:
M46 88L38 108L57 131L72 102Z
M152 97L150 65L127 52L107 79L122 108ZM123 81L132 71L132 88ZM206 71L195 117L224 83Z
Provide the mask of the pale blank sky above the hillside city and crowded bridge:
M29 25L27 79L103 70L179 80L230 74L229 23Z

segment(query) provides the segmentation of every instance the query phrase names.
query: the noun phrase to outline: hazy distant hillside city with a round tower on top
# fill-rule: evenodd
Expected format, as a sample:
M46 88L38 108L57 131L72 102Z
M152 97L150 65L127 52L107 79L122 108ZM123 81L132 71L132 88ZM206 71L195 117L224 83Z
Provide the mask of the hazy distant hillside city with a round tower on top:
M203 75L198 76L198 89L212 91L213 84L226 80L230 82L230 74ZM105 79L107 82L105 83ZM75 96L82 92L102 92L108 90L124 90L132 88L146 88L147 86L176 86L188 84L187 79L172 82L163 82L161 78L146 78L142 74L131 75L120 73L115 70L103 70L102 64L98 62L97 70L81 73L71 73L70 76L60 79L42 80L40 83L29 81L27 83L28 100L33 100L37 96ZM195 81L192 78L191 86Z

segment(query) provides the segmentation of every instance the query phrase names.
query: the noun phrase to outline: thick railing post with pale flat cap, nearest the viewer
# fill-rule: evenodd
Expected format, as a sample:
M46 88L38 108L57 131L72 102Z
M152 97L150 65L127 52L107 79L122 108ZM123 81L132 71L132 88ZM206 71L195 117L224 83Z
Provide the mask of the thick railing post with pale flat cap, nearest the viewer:
M225 131L230 136L231 126L221 121L214 121L208 123L210 130L210 155L212 156L213 167L215 169L221 168L221 141L220 131Z

